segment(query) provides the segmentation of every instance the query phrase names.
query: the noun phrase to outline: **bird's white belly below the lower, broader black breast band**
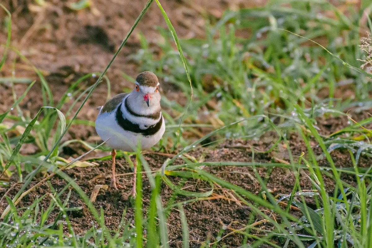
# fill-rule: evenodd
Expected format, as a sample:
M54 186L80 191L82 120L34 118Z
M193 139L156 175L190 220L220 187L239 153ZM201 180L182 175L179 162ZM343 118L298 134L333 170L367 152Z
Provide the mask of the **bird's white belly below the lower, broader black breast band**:
M143 136L124 130L116 123L116 111L100 114L96 120L96 131L102 140L109 139L108 144L113 149L123 150L125 152L135 152L138 142L142 143L142 150L149 149L159 142L165 131L165 123L160 130L152 136Z

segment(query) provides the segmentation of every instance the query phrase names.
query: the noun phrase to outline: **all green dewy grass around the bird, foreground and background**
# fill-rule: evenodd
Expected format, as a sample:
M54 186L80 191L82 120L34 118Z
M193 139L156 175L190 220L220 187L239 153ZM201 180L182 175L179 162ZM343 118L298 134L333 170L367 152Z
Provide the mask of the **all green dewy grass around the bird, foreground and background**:
M115 57L151 2L148 1ZM77 86L92 77L93 73L81 77L64 92L57 104L48 82L34 68L42 85L44 107L34 118L24 116L22 109L17 108L33 86L33 82L26 80L30 83L29 88L22 96L15 98L15 104L9 111L0 115L2 171L7 177L17 173L19 182L23 185L13 199L6 197L9 212L3 213L4 219L0 223L0 244L8 247L169 247L167 225L171 223L167 223L166 217L171 209L177 209L182 223L183 247L186 248L189 247L190 240L185 204L213 200L216 197L212 195L215 192L214 187L218 185L229 190L240 204L249 206L251 216L247 226L241 230L227 231L221 227L212 241L204 241L205 247L223 245L224 239L235 233L242 235L242 244L250 244L249 247L259 247L262 244L288 247L290 242L304 248L330 248L335 245L372 247L372 166L358 168L360 156L372 156L369 142L371 132L362 128L371 123L372 118L357 124L350 121L345 128L334 130L329 136L319 134L316 122L317 117L346 115L343 111L350 107L372 107L368 98L372 90L368 78L371 75L357 69L360 66L357 59L362 58L358 47L361 14L350 8L346 16L325 1L272 1L262 8L227 11L218 22L206 23L205 39L182 40L177 38L176 30L160 2L156 0L156 3L168 27L168 30L158 28L164 38L158 44L161 55L155 57L145 37L141 36L142 49L133 57L143 69L154 71L164 83L176 86L187 101L186 105L182 105L177 101L170 101L166 96L162 98L162 106L166 109L164 117L167 120L167 131L157 148L177 154L164 163L161 172L153 175L144 157L137 152L139 172L143 166L146 180L149 180L152 188L147 217L142 211L142 194L139 191L135 201L135 226L125 219L124 211L118 228L109 230L105 226L103 210L94 208L84 191L59 170L60 165L56 163L61 147L72 142L61 142L70 125L93 125L86 120L77 120L76 117L102 79L106 79L110 90L110 83L104 75L112 61L102 74L94 74L95 77L98 76L94 85L78 89ZM323 14L325 12L332 15L326 16ZM8 22L6 52L9 48L10 26L11 23ZM250 35L242 37L240 32L247 29ZM308 39L324 47L313 44ZM19 56L26 61L21 54ZM1 60L0 70L5 58L6 54ZM14 78L11 82L14 87L20 80ZM335 99L337 90L343 85L352 86L353 98ZM324 90L327 93L322 95ZM73 103L70 96L73 96ZM79 103L80 107L73 113L73 106ZM65 104L69 108L62 113L60 109ZM18 116L10 115L13 108L17 108ZM14 125L9 127L4 124L4 120L12 121ZM10 136L10 132L14 132L17 127L22 127L23 131L18 132L15 137ZM288 144L287 134L297 133L302 137L307 152L294 158L287 145L289 161L280 163L255 162L255 150L252 150L251 162L204 162L203 159L189 155L205 144L213 149L213 145L218 142L211 141L212 137L217 141L234 138L259 139L269 131L276 134L270 151L275 150L279 143ZM320 156L315 153L310 140L321 148ZM35 144L40 152L29 157L20 155L20 147L27 142ZM95 146L83 144L89 149ZM337 168L334 165L330 153L336 149L350 151L352 167ZM327 159L330 167L318 165L318 161L323 158ZM11 165L15 165L15 169L10 170ZM203 169L212 166L253 168L262 193L256 195ZM274 167L289 169L295 175L292 194L281 195L280 198L273 195L266 186L268 177L262 178L257 172L260 167L267 168L267 175L271 174ZM26 209L17 209L17 199L36 173L46 168L65 179L67 185L57 192L49 184L51 202L46 210L39 209L43 198ZM28 177L22 178L22 171L28 172ZM344 182L341 174L352 175L356 186ZM312 190L300 187L300 175L310 179ZM206 182L210 188L206 192L188 191L182 188L183 181L176 184L171 180L172 177L198 179ZM331 195L328 194L324 177L333 179L336 185ZM161 179L173 190L166 206L161 202ZM142 177L138 176L139 187L141 182ZM9 185L5 184L4 187ZM92 228L83 235L74 233L66 214L79 210L67 207L71 188L77 191L95 219ZM60 199L63 193L67 193L64 201ZM188 198L178 201L177 195ZM314 198L316 209L307 206L307 197ZM297 207L302 217L295 217L290 211L291 206ZM59 209L58 217L53 223L47 224L48 216L55 207ZM275 215L262 211L263 208L280 216L281 222L276 221ZM19 210L23 213L20 214ZM37 216L41 216L40 219ZM256 216L263 219L260 225L271 225L272 229L256 227ZM64 226L67 226L67 231ZM255 235L253 231L257 230L266 235Z

